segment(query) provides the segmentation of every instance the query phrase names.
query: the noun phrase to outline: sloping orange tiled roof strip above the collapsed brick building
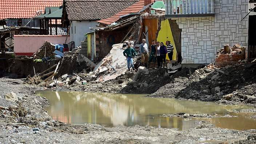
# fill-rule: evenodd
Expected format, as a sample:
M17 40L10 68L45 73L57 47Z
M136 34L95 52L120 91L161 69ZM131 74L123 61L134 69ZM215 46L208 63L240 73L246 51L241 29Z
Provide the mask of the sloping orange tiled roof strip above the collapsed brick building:
M139 0L135 4L131 5L130 7L124 9L123 11L117 13L116 15L113 15L112 17L109 17L107 19L99 20L97 22L102 24L112 24L113 22L116 22L120 19L120 16L128 15L130 13L136 13L139 12L141 9L144 8L144 1L145 0ZM151 2L154 2L154 0L151 0Z

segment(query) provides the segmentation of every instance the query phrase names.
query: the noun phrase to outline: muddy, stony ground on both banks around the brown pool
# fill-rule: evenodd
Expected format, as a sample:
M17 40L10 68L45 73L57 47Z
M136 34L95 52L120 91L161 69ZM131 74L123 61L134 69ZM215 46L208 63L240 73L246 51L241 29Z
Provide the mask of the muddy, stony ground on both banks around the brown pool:
M105 83L74 83L52 89L152 93L149 96L255 106L256 66L239 64L221 70L228 75L207 67L196 71L182 68L174 75L166 75L163 69L151 69L147 73L141 73L136 82L132 81L135 73L125 73ZM0 88L0 143L256 143L255 129L237 131L215 128L214 125L203 122L188 131L137 125L113 128L97 124L69 125L53 120L44 111L44 107L49 105L48 101L36 96L35 91L46 87L16 81L0 82ZM16 101L5 100L6 94L11 92L17 95ZM256 109L245 109L241 112L256 113ZM165 116L184 117L181 113Z

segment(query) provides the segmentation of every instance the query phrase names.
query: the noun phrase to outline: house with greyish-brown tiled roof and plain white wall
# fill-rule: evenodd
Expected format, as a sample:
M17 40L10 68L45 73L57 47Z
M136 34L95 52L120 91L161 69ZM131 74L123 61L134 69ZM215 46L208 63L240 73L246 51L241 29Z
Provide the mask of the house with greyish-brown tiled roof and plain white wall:
M97 25L97 20L106 19L136 3L139 0L64 0L63 17L66 27L70 27L70 39L75 47L81 44L89 27ZM91 36L97 39L97 36ZM95 46L96 44L92 44Z

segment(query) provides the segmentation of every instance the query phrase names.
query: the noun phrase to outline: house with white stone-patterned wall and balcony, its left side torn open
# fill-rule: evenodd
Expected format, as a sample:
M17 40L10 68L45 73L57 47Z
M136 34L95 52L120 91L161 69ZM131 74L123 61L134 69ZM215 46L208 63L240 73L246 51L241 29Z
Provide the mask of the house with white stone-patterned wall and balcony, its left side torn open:
M248 0L165 0L165 21L179 35L183 64L213 63L224 45L248 46ZM168 24L167 24L168 25ZM179 28L180 33L173 31Z

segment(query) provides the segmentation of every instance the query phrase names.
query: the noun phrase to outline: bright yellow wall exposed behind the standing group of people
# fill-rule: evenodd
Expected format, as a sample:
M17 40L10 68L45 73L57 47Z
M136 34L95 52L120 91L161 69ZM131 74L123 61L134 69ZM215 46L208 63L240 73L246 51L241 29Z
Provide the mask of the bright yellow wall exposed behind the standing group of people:
M176 60L177 50L176 50L176 46L175 46L174 39L172 36L171 25L169 24L168 19L161 21L161 29L157 36L157 41L159 41L160 43L163 42L164 45L166 45L165 42L167 40L171 41L171 44L174 47L172 59ZM168 55L166 55L166 59L169 60Z

